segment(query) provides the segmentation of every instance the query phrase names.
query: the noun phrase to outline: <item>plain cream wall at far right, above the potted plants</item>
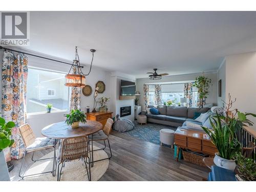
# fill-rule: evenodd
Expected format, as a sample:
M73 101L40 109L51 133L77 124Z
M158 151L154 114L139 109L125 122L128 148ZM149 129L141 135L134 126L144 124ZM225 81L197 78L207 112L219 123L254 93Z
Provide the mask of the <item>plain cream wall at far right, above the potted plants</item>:
M237 98L233 108L256 114L256 52L226 57L226 100ZM254 123L256 118L249 117ZM256 125L253 126L256 130Z

